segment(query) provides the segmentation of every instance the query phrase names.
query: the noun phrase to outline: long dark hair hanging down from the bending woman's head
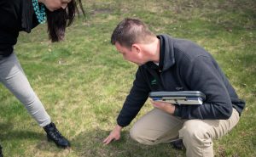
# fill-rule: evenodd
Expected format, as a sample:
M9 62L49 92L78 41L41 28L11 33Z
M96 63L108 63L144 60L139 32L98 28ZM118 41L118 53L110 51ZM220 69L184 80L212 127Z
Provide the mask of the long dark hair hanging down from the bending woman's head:
M46 8L48 33L51 42L60 42L63 40L66 27L73 23L76 13L79 14L77 2L79 3L79 7L84 14L84 8L81 0L72 0L70 3L67 3L67 8L60 8L53 12Z

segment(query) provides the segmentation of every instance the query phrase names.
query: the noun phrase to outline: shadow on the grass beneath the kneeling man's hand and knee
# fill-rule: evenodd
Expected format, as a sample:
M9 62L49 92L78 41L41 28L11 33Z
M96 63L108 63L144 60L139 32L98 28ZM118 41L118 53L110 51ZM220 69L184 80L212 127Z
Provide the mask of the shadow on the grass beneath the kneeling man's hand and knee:
M122 132L119 141L114 141L108 145L102 143L105 137L108 137L109 131L101 129L92 130L90 132L81 132L73 138L73 151L80 157L101 157L101 156L184 156L184 151L172 149L168 143L158 144L156 146L147 146L136 143L129 136L129 132Z

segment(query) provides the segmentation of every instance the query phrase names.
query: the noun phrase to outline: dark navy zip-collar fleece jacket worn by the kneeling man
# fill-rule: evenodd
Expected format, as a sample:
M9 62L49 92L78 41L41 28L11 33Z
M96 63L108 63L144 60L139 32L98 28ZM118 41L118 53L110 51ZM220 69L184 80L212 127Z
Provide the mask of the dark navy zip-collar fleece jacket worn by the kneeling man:
M129 125L143 107L148 93L157 91L201 91L206 95L201 105L176 106L174 115L182 119L228 119L232 108L241 114L244 101L238 98L210 53L194 42L167 35L158 38L162 68L153 62L138 68L131 92L117 118L119 126Z

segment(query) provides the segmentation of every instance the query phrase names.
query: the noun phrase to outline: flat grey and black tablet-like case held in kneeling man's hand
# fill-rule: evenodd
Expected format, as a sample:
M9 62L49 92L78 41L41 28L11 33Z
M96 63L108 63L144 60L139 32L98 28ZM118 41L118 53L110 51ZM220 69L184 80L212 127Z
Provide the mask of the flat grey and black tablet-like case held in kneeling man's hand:
M171 104L203 104L206 95L200 91L151 92L149 98Z

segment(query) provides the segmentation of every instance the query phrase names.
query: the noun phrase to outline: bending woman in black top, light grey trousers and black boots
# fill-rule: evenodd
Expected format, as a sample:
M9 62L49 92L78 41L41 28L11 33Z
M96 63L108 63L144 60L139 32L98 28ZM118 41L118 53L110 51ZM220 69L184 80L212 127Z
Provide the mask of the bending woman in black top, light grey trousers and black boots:
M81 0L1 0L0 1L0 82L25 105L28 113L44 128L49 140L67 148L68 140L61 135L32 90L17 59L14 46L20 31L29 33L32 28L47 21L49 39L59 42L65 29L73 23ZM2 154L0 146L0 156Z

